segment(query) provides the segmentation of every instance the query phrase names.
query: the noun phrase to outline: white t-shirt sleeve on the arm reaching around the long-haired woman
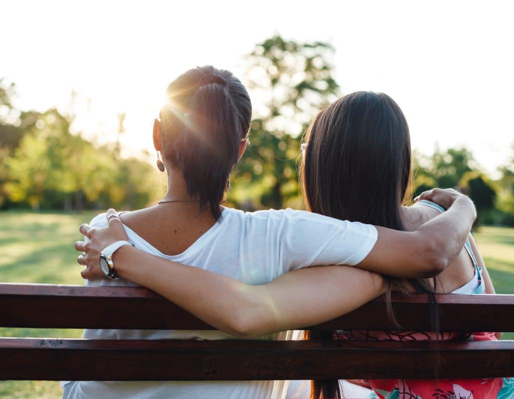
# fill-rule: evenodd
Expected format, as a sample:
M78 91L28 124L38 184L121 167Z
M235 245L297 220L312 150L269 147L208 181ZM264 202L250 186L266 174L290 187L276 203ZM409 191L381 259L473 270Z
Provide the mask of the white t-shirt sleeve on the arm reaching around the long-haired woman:
M282 273L313 265L361 262L377 241L371 224L329 218L304 211L283 211L277 230Z

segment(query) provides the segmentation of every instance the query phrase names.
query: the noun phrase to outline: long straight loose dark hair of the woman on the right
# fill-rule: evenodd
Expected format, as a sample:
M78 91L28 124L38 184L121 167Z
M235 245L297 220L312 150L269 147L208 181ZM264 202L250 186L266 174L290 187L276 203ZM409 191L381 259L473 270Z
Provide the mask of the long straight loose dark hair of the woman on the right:
M348 94L318 114L304 140L300 175L311 212L406 230L400 210L412 195L411 144L393 99L367 91ZM425 279L384 278L387 311L395 322L392 291L434 292ZM306 331L304 338L332 339L333 331ZM311 397L341 397L338 381L313 381Z

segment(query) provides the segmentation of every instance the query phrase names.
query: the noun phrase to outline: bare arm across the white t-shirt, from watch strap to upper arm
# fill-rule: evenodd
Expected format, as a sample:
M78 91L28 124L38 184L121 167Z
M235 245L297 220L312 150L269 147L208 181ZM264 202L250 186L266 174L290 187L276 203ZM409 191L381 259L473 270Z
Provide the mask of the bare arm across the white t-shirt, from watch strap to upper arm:
M121 278L159 293L238 337L316 325L383 293L379 275L347 266L300 269L250 286L130 246L121 248L113 260Z

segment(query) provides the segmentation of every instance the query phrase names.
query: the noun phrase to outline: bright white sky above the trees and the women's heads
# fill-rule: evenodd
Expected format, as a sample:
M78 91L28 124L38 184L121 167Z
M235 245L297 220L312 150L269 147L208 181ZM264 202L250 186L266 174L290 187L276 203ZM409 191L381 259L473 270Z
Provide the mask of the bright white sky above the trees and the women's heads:
M126 146L153 151L170 81L205 64L241 75L242 56L280 33L331 42L343 93L388 93L421 152L465 145L489 172L512 155L512 2L135 3L3 4L0 77L16 83L16 105L66 110L75 90L75 129L113 140L126 112Z

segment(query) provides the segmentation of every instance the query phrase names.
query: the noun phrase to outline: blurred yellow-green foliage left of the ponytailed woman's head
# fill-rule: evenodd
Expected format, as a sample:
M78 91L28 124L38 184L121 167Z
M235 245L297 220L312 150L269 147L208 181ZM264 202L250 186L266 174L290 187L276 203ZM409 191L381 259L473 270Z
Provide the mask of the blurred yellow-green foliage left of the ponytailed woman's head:
M11 106L5 93L0 100ZM120 136L123 121L119 115ZM70 118L57 109L19 112L15 124L0 125L0 138L0 207L140 208L163 194L149 163L120 157L120 137L95 146L71 134Z

